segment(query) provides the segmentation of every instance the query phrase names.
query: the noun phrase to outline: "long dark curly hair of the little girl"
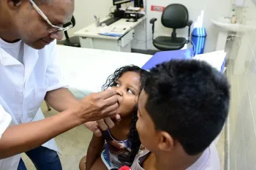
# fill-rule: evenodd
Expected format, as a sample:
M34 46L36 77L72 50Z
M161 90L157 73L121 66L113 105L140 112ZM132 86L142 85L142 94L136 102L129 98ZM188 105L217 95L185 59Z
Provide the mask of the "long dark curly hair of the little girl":
M116 71L111 74L104 85L102 85L102 90L106 90L109 87L112 87L113 85L116 85L116 80L118 80L125 72L136 72L140 75L140 92L143 89L144 80L146 79L147 71L144 69L141 69L138 66L129 65L129 66L122 66L119 69L116 69ZM140 137L138 135L138 131L136 129L136 123L138 120L137 117L138 112L138 106L135 106L135 111L132 113L132 124L129 128L129 134L127 135L128 141L131 142L131 149L132 152L130 153L130 158L133 160L138 153L138 150L140 149Z

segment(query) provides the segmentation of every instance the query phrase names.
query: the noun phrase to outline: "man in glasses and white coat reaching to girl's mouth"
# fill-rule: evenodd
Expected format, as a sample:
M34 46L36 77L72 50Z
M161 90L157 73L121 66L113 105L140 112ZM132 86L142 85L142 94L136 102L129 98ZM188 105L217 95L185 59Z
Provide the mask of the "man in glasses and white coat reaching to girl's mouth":
M55 39L72 28L73 10L74 0L0 1L0 170L26 169L21 152L39 170L59 170L53 137L116 114L113 90L77 101L61 80ZM61 113L44 119L44 99Z

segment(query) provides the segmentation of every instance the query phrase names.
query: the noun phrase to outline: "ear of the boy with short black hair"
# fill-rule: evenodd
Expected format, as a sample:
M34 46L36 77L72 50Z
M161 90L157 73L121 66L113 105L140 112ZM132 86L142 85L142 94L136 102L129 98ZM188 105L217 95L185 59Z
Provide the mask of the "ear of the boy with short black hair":
M159 150L170 152L173 150L174 147L174 139L170 134L165 131L159 131L159 143L158 148Z

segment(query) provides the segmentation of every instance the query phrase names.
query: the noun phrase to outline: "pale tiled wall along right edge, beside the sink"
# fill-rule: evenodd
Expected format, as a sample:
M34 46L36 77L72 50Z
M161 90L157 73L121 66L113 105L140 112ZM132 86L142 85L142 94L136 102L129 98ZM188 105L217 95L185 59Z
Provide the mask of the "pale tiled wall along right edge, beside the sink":
M251 0L245 0L245 6L244 18L256 21L256 6ZM241 38L233 42L229 53L231 60L227 65L227 77L231 84L230 170L256 170L256 30L246 35L247 42L242 42ZM241 74L234 74L238 50L243 45L245 67Z

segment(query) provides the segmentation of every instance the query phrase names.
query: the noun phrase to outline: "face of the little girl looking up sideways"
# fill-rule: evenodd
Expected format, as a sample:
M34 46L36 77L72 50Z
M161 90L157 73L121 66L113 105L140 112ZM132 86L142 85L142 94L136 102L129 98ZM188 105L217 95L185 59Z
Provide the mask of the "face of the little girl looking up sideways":
M112 88L116 90L119 104L117 114L121 117L126 117L135 111L140 85L140 74L136 72L125 72L114 83Z

